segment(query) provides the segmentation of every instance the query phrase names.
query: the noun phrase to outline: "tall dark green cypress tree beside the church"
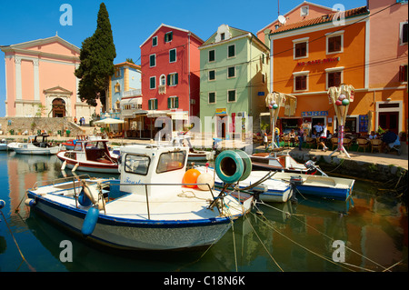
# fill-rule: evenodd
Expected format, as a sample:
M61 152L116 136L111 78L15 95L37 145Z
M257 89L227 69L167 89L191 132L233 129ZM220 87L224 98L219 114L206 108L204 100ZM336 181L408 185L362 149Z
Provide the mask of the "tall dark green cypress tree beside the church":
M105 105L105 92L109 85L109 76L114 75L116 57L114 37L108 11L104 3L99 7L94 35L85 39L80 52L81 64L75 70L80 78L78 95L88 105L96 105L100 98Z

